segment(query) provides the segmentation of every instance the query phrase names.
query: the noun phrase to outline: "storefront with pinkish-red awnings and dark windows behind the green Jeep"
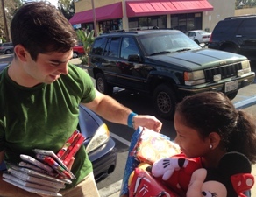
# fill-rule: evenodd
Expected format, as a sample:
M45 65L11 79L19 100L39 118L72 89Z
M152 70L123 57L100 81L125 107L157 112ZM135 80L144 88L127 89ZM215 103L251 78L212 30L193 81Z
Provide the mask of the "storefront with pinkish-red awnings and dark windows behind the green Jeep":
M85 0L75 3L75 8L83 2L85 3ZM93 11L96 18L93 18ZM94 29L96 19L96 30L99 32L153 27L174 28L187 32L203 28L203 12L206 11L213 11L213 6L207 0L123 0L77 12L69 21L72 25L81 24L81 28Z

